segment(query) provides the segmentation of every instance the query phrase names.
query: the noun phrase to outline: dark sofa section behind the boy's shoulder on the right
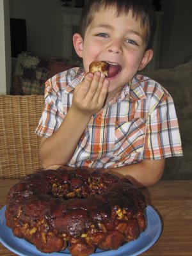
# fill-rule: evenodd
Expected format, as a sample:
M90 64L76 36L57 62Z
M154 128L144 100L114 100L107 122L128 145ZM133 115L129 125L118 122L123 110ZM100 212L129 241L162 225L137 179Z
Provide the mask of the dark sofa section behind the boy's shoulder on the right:
M160 83L172 95L179 122L184 156L166 159L163 179L192 179L192 61L143 74Z

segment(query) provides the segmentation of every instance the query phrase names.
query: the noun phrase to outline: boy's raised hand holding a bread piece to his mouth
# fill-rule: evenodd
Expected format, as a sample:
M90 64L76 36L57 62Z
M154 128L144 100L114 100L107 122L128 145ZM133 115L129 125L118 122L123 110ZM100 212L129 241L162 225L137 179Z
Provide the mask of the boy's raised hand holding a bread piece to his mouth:
M109 81L104 74L88 73L84 80L74 90L71 108L93 115L103 106L108 93Z

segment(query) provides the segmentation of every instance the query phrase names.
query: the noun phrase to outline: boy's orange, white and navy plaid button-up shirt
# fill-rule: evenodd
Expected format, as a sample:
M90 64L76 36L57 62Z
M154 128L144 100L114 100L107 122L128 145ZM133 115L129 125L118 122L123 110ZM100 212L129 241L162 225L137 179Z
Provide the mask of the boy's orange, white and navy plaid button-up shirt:
M83 75L81 68L72 68L45 83L38 135L51 136L58 129ZM172 156L182 156L173 99L156 81L138 75L92 116L67 165L114 168Z

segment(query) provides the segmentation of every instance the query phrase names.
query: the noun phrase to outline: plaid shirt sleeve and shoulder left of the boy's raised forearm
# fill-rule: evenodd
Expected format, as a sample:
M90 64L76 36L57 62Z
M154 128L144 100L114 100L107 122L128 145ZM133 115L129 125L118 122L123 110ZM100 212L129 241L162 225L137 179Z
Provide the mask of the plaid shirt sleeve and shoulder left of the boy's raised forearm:
M74 88L83 76L84 71L75 67L58 73L45 82L45 104L36 134L48 137L60 127L72 104Z

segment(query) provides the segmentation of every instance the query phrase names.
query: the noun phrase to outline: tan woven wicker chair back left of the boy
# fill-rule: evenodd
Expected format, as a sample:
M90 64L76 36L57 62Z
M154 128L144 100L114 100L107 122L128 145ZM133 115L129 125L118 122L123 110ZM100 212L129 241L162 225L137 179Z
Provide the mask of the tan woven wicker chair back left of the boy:
M0 95L0 178L18 178L42 169L35 128L44 96Z

